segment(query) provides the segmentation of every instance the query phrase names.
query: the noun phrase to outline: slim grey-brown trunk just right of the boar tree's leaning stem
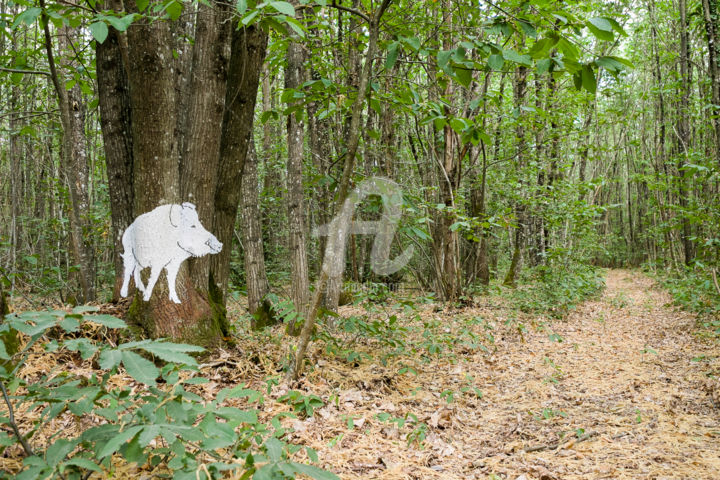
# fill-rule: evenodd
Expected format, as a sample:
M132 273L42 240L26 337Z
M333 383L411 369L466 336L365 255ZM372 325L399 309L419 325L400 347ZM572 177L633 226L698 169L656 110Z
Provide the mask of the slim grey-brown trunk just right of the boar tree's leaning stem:
M261 306L270 290L265 271L265 252L260 223L258 195L257 153L250 141L242 178L242 238L245 247L245 279L248 292L248 310L251 314ZM255 327L255 321L253 321Z

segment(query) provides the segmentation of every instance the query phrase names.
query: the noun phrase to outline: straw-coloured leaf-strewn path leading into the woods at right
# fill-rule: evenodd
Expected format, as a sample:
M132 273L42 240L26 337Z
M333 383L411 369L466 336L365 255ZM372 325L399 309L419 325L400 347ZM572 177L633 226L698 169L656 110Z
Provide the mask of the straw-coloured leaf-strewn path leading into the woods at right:
M533 335L518 352L532 360L515 366L514 382L495 399L517 412L506 441L518 444L507 455L506 443L486 469L512 479L522 471L545 480L720 479L720 405L708 394L717 398L717 383L705 375L707 362L718 366L717 342L694 336L694 316L667 306L667 292L639 272L610 270L606 284L600 298L552 324L562 342ZM567 427L584 429L587 439L558 440Z

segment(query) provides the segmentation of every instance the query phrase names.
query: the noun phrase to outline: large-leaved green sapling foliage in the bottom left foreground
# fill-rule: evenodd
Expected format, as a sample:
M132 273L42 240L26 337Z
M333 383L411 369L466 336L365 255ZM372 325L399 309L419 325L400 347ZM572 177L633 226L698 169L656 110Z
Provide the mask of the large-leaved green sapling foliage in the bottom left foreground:
M8 315L2 325L30 338L14 370L0 367L0 383L12 392L5 397L6 406L16 411L30 405L41 412L33 429L21 433L31 455L23 460L24 469L15 478L80 479L90 472L113 476L112 457L117 454L147 471L169 471L178 479L209 480L231 472L254 479L290 479L299 474L337 479L317 467L293 462L291 456L300 447L283 440L284 430L277 419L266 425L258 420L257 411L224 403L231 398L259 398L260 392L242 386L225 388L210 400L193 393L193 385L208 381L199 375L197 362L189 355L201 348L161 340L113 347L79 336L89 324L124 328L121 320L88 314L90 310L25 312ZM51 332L54 339L48 340ZM99 371L88 378L53 370L27 382L17 372L36 343L58 355L96 361ZM142 384L140 388L113 381L121 369ZM67 415L100 421L76 436L59 430L51 435L46 449L33 448L38 432ZM12 418L0 418L8 431L17 428ZM3 433L0 449L19 441Z

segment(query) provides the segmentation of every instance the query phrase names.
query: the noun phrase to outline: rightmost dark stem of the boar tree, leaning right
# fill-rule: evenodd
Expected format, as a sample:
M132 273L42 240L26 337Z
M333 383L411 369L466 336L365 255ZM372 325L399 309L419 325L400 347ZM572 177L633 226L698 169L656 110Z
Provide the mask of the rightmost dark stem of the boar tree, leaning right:
M220 176L215 193L213 229L225 247L211 258L210 273L223 298L230 276L230 248L240 203L242 172L253 129L267 33L255 26L232 32L225 114L222 121Z

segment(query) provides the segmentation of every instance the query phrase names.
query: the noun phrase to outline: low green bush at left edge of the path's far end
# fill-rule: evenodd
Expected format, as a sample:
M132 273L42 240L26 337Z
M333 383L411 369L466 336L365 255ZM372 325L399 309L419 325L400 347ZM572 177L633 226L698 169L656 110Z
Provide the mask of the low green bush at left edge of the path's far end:
M510 293L510 304L525 313L553 318L564 318L582 301L605 288L600 269L579 263L543 265L527 275L529 284ZM553 335L551 340L561 341Z

